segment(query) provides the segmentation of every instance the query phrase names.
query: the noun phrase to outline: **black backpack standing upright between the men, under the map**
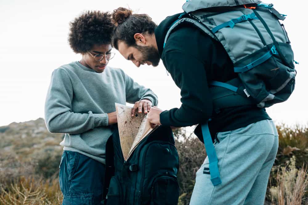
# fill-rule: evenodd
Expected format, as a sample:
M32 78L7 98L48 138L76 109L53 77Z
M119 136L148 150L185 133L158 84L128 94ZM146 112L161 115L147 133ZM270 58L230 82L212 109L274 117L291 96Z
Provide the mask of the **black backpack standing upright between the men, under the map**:
M104 204L176 205L179 198L176 176L179 156L171 128L157 128L140 142L127 161L123 158L117 129L115 127L112 139L106 146L103 198L107 200Z

